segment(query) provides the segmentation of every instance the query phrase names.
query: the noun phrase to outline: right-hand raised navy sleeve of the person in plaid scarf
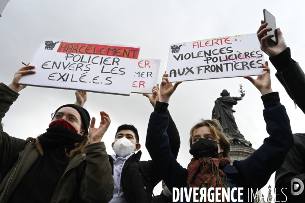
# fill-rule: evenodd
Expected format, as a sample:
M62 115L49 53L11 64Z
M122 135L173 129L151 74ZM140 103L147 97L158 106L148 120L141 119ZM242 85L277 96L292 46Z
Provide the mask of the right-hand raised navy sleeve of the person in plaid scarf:
M279 93L263 95L262 100L265 107L264 120L270 136L247 159L233 163L247 187L254 190L267 184L272 173L284 163L294 143L290 121L285 107L280 103Z

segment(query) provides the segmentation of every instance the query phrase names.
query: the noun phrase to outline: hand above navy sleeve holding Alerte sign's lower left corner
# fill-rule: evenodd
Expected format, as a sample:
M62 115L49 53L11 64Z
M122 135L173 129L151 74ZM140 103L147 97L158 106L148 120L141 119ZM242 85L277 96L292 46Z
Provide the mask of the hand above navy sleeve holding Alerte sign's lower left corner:
M162 82L160 84L160 102L169 103L172 94L175 92L177 86L182 83L181 81L176 82L174 85L169 83L169 74L164 73Z

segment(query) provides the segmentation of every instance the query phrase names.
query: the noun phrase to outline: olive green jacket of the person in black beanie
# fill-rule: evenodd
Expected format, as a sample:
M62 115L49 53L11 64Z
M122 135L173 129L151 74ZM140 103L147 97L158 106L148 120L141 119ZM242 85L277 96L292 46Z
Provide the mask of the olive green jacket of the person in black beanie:
M0 122L10 106L18 98L18 93L0 83ZM11 137L0 128L0 172L2 172L22 149L25 140ZM79 196L85 202L109 202L113 197L114 179L104 142L89 144L86 158L77 154L69 159L69 164L53 193L51 202L70 202L76 194L76 168L86 159ZM25 173L39 157L34 142L28 142L18 161L0 183L0 203L6 202L18 186Z

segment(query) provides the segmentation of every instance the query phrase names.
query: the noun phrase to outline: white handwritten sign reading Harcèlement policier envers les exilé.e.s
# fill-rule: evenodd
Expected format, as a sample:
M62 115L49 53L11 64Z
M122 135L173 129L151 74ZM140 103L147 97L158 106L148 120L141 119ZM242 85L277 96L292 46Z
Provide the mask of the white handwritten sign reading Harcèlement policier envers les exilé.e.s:
M19 83L130 95L140 47L46 38Z

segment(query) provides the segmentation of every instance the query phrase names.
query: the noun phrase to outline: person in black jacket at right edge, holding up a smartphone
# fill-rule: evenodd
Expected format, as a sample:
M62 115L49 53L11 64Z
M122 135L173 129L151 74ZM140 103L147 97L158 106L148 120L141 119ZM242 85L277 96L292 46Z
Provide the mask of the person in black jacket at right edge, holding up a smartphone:
M287 47L280 28L277 28L278 44L268 42L274 35L265 35L271 28L261 21L257 32L261 49L277 70L275 76L284 86L289 97L305 113L305 74L299 64L291 59L290 48ZM283 165L275 172L276 202L304 202L305 191L305 133L293 134L294 146L286 156ZM299 185L295 190L294 186ZM282 191L281 191L282 190ZM298 194L299 193L299 194Z

